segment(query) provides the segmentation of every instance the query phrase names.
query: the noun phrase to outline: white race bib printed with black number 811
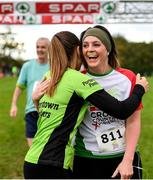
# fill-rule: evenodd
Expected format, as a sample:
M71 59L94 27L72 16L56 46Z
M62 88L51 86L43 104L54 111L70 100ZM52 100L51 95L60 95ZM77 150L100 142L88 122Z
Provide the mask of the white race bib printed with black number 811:
M125 127L109 129L96 135L99 150L110 152L123 149L125 146Z

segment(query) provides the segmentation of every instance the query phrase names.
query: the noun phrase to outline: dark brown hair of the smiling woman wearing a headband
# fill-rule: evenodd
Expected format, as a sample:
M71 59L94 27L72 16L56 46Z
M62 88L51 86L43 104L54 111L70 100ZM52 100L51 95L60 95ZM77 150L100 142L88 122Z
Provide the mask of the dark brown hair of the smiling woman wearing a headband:
M117 50L115 47L115 42L114 42L113 37L111 36L110 32L104 26L100 26L100 25L96 25L93 28L100 29L107 34L107 36L110 40L110 43L111 43L111 50L110 50L109 55L108 55L108 64L114 69L119 67L120 64L119 64L119 61L117 59ZM83 61L85 68L88 68L88 65L87 65L87 63L83 57L83 53L82 53L82 47L83 46L82 45L83 45L83 37L89 29L92 29L92 28L90 27L90 28L86 29L85 31L83 31L81 33L81 36L80 36L80 55L81 55L81 59Z

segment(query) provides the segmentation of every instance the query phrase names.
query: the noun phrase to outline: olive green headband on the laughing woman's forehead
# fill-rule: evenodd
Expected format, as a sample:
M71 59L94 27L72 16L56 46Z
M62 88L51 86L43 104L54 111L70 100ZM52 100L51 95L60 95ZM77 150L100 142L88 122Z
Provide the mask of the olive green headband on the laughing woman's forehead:
M106 47L107 51L110 52L112 49L111 41L107 33L99 28L90 28L88 29L83 38L82 41L87 37L87 36L95 36L97 37Z

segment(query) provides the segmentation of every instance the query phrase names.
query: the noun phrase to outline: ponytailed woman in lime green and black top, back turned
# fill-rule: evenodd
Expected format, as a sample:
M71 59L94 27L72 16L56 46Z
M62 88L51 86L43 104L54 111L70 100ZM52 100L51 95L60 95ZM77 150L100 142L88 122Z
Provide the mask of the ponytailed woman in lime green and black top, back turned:
M49 46L50 78L47 92L39 100L38 130L24 163L26 179L70 178L77 127L88 103L108 114L125 119L141 102L148 89L137 77L131 97L118 101L89 76L80 73L79 39L71 32L55 34Z

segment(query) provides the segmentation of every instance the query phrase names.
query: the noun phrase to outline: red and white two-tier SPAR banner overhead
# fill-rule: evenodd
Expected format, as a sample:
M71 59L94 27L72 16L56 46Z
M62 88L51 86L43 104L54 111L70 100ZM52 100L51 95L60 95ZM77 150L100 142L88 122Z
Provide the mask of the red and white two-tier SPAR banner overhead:
M114 8L108 1L0 2L0 24L95 24Z

